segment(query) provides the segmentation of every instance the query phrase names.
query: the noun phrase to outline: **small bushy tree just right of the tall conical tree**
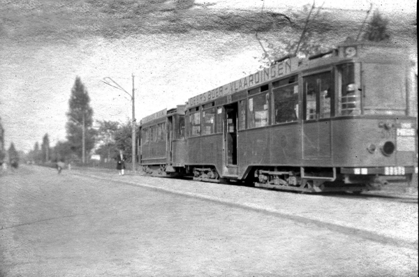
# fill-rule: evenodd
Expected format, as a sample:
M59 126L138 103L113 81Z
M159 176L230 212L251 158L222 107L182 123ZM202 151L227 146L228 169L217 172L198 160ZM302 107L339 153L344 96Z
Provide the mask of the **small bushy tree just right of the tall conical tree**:
M96 154L110 160L116 151L115 135L119 129L119 122L103 120L97 121L97 123L99 124L97 138L100 146L96 149Z

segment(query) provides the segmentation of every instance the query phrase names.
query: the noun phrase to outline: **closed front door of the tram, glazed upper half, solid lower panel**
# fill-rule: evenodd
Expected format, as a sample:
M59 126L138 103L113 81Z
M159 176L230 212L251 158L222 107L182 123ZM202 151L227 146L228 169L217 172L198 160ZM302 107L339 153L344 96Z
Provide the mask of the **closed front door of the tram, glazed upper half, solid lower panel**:
M304 77L302 158L331 157L330 112L333 95L330 71Z

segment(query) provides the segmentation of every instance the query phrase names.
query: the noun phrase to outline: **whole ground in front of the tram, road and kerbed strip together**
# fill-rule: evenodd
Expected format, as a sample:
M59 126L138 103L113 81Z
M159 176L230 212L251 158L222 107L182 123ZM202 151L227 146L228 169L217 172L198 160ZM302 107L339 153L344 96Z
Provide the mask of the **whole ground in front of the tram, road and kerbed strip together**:
M0 177L0 276L418 276L418 200L116 172Z

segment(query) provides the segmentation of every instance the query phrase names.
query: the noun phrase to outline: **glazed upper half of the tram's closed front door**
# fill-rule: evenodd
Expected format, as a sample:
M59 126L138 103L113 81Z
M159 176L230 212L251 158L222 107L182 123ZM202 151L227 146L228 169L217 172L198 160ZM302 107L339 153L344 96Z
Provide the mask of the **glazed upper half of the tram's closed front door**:
M332 91L330 72L304 77L304 120L330 117Z

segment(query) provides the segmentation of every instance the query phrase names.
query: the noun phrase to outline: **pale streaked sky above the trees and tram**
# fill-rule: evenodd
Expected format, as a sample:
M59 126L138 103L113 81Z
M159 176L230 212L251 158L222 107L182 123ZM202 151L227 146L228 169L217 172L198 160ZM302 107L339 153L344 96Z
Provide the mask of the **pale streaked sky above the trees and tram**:
M126 123L131 119L129 96L104 84L104 77L131 93L134 75L139 121L253 73L263 54L256 31L261 30L265 45L274 41L287 30L277 23L283 22L282 15L297 20L291 10L302 10L307 3L312 2L0 0L0 117L6 148L13 142L17 150L30 151L46 133L51 146L66 140L76 76L87 88L94 120ZM416 33L416 1L373 4L390 22L406 24L399 27L408 29L407 37L409 31ZM342 19L351 33L370 2L316 1L320 6L326 13L353 13ZM262 9L272 12L274 20L260 17Z

